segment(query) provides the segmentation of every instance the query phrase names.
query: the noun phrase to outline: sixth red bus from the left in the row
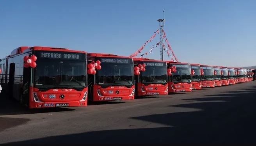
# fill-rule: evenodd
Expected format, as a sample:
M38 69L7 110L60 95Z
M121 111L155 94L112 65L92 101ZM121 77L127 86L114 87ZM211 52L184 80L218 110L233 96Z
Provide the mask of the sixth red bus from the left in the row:
M203 88L214 88L215 87L215 76L214 68L209 65L200 65L200 68L203 69L204 75L202 75L202 84Z

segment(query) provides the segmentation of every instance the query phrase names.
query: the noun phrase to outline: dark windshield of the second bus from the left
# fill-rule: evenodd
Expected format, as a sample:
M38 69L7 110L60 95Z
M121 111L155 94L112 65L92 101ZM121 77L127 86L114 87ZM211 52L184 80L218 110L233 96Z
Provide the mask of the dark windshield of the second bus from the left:
M112 61L101 58L101 69L96 73L96 83L100 86L126 86L134 84L132 59L114 58ZM117 63L114 60L126 60ZM109 61L109 62L108 62Z

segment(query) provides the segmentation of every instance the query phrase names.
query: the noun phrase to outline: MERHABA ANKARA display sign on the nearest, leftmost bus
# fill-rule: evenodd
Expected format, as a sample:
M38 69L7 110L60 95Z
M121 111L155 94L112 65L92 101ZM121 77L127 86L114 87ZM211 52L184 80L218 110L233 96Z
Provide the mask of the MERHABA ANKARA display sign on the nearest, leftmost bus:
M63 59L63 60L85 60L85 54L57 51L36 51L37 58Z

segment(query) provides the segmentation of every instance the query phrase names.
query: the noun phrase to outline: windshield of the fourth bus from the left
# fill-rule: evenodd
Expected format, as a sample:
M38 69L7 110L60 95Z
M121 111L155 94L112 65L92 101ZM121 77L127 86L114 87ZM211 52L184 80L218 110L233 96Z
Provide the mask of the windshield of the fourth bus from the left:
M191 67L188 64L173 64L176 72L172 72L171 81L173 83L191 83Z

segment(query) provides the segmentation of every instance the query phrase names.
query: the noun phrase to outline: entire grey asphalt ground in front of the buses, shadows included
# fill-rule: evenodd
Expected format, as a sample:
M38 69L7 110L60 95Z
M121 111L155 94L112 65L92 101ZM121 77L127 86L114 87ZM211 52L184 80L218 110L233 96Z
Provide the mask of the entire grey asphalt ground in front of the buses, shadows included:
M256 81L87 107L0 103L0 143L256 144Z

